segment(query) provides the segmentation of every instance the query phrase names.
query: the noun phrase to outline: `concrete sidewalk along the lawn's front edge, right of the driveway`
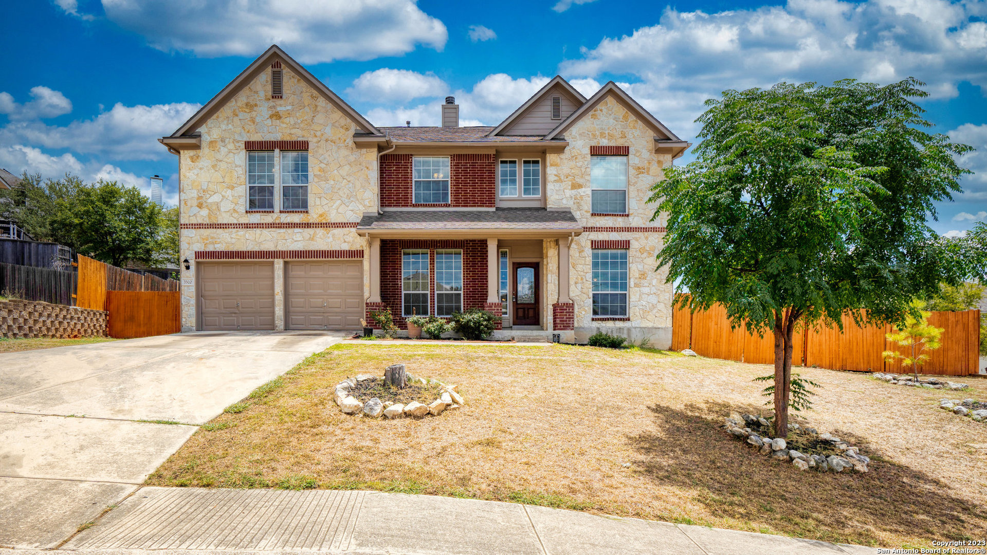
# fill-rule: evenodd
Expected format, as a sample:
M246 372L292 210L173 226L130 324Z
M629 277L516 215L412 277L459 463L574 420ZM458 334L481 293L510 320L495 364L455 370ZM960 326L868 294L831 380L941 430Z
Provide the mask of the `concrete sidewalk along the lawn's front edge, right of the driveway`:
M61 549L76 555L133 555L144 550L198 555L313 550L406 555L876 552L785 536L468 499L202 488L141 488Z

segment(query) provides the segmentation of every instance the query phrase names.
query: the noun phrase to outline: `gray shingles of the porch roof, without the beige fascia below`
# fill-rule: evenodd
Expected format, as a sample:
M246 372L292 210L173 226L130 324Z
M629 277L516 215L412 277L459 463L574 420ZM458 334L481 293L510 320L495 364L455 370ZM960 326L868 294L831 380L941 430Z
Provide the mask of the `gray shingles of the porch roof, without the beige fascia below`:
M575 229L570 210L497 208L495 210L389 210L365 215L357 231L384 229ZM580 228L581 230L581 228Z

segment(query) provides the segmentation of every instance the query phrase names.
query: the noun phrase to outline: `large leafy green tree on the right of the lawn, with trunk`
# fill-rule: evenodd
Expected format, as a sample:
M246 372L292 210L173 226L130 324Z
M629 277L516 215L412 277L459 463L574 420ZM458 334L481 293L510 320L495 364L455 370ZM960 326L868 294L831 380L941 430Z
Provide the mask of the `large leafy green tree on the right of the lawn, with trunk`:
M680 302L723 303L734 326L774 335L776 436L788 434L797 325L842 326L862 309L897 322L914 296L983 268L972 240L926 225L960 191L968 172L953 156L970 147L925 131L922 85L725 91L697 119L697 160L652 189L654 219L669 214L658 268L689 291Z

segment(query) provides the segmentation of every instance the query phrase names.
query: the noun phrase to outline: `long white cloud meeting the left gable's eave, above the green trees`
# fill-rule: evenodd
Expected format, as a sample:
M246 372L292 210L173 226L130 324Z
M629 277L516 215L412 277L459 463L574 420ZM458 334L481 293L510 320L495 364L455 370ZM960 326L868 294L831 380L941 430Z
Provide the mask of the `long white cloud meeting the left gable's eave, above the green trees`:
M52 92L61 97L61 93ZM78 153L110 155L121 160L159 160L169 154L158 138L174 132L198 108L199 105L189 103L154 106L123 106L117 103L109 112L92 119L77 119L66 125L47 125L38 119L11 121L0 127L0 143L67 148Z

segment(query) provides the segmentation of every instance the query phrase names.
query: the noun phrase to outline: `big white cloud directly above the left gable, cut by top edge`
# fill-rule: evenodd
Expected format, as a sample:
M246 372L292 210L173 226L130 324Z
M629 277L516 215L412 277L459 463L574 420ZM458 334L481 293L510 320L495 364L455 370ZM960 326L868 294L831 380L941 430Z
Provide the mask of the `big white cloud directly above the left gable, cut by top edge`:
M107 19L160 50L252 56L276 43L302 63L441 50L445 25L415 0L103 0Z

